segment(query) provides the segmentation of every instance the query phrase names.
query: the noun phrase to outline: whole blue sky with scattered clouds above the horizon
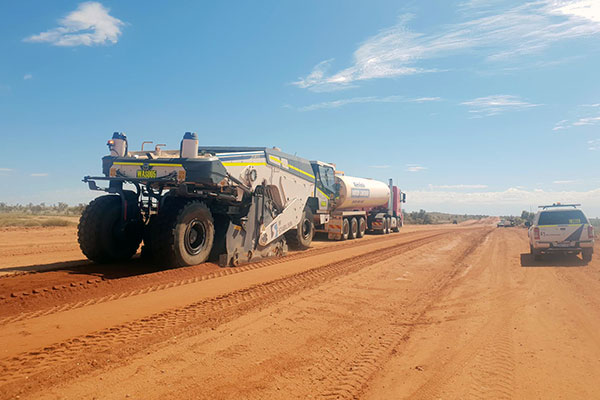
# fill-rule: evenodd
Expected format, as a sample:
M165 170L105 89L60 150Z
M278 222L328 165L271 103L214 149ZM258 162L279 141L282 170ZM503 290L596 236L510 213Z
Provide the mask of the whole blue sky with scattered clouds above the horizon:
M106 140L278 146L407 208L600 216L600 2L2 2L0 201L88 201Z

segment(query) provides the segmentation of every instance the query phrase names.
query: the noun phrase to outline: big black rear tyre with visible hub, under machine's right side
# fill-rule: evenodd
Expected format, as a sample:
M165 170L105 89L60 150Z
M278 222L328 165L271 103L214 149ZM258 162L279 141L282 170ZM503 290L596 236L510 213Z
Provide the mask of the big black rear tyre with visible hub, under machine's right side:
M210 255L215 227L210 210L201 201L167 203L151 226L152 261L183 267L205 262Z

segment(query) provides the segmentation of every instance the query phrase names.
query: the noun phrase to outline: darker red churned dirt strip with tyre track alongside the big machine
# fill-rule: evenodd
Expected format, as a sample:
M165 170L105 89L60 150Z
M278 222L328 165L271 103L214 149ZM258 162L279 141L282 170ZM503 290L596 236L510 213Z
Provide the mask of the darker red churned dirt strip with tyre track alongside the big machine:
M285 261L293 261L326 255L344 249L370 246L375 241L380 245L393 246L404 238L428 237L430 235L449 232L446 230L430 230L427 232L410 232L393 234L384 237L371 237L367 240L354 240L339 243L328 243L327 246L311 248L306 251L296 251L283 258L273 258L256 263L246 264L236 268L219 268L213 263L204 263L192 267L177 269L158 269L144 266L140 260L129 264L98 266L92 271L114 271L115 268L126 270L133 267L141 270L139 274L107 278L98 276L99 272L89 272L89 263L82 266L69 265L64 276L53 279L49 286L32 280L28 282L27 275L13 275L0 278L4 293L0 294L0 325L22 321L39 316L51 315L74 308L85 307L106 301L129 296L154 292L167 288L188 285L204 280L221 278L233 274L269 267ZM81 268L82 271L78 271ZM55 269L60 269L58 266ZM40 272L38 274L46 274ZM73 274L81 273L84 277L73 280ZM38 275L36 274L36 275ZM18 286L15 291L11 287ZM0 292L1 293L1 292Z

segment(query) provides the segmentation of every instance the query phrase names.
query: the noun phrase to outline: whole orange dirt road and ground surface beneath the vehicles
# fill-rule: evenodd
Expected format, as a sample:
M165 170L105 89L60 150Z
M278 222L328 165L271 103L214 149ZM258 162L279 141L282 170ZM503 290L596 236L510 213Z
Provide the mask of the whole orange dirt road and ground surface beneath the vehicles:
M0 399L600 398L598 245L477 223L157 269L53 240L0 249Z

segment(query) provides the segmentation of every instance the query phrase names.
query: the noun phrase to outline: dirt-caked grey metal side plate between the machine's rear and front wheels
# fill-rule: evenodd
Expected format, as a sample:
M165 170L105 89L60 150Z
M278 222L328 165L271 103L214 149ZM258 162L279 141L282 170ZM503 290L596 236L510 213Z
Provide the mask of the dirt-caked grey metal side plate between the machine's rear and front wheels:
M248 215L241 224L229 223L225 234L225 253L219 255L219 266L236 267L247 262L254 262L270 257L280 257L287 254L288 247L281 237L266 246L259 244L261 227L273 220L270 212L265 209L265 198L254 195Z

